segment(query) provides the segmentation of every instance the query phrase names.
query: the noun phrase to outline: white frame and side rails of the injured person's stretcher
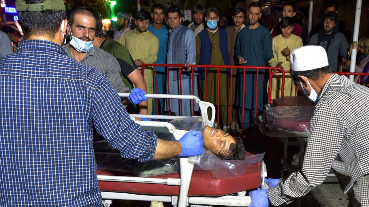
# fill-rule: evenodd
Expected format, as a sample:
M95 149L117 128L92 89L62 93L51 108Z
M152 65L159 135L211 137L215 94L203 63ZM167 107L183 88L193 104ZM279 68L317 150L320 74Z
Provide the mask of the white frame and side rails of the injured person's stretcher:
M129 93L119 93L120 97L128 97ZM201 111L201 117L204 126L213 126L215 119L215 107L209 102L200 101L200 99L193 95L164 95L164 94L146 94L148 98L179 98L179 99L193 99L199 104ZM207 109L212 109L212 116L209 120L207 117ZM151 119L175 119L178 117L185 116L162 116L162 115L136 115L130 114L131 118L151 118ZM135 121L141 126L146 127L166 127L170 133L173 134L176 140L179 140L185 133L186 130L178 130L173 124L169 122L145 122L145 121ZM155 195L144 195L144 194L134 194L134 193L124 193L124 192L107 192L101 191L101 196L103 198L104 207L109 207L112 200L137 200L137 201L162 201L170 202L173 207L186 207L196 204L196 207L208 207L211 205L220 206L249 206L251 204L251 197L245 196L246 191L238 192L237 196L220 196L220 197L201 197L192 196L188 197L189 186L191 181L191 176L193 172L194 164L189 162L188 157L179 158L180 161L180 178L140 178L140 177L130 177L130 176L109 176L109 175L97 175L97 180L99 181L115 181L115 182L135 182L135 183L155 183L162 185L174 185L180 186L180 192L178 196L155 196ZM265 184L264 178L267 176L266 165L261 161L261 189L268 188Z

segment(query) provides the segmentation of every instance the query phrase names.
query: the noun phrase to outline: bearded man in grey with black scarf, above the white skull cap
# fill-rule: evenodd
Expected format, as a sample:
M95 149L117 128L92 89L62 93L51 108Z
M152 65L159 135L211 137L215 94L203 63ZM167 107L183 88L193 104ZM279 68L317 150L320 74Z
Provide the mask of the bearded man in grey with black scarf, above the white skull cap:
M338 32L337 22L337 14L328 11L324 15L322 27L317 34L311 36L309 43L309 45L320 45L327 51L329 66L333 71L337 71L338 54L345 60L350 59L346 37Z

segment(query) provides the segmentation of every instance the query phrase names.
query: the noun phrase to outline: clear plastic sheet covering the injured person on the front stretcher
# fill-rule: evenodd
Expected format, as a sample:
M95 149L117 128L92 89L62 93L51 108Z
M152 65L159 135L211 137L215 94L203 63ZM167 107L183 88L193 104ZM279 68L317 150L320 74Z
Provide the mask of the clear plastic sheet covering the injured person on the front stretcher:
M203 129L201 117L188 117L172 120L176 129L199 130ZM142 127L146 129L146 127ZM174 141L173 134L166 128L151 127L156 135L164 140ZM155 175L165 175L179 173L179 158L151 160L149 162L138 162L137 160L124 159L117 150L111 148L106 140L98 141L93 144L95 159L98 169L109 171L123 171L133 173L140 177ZM194 170L209 170L216 178L228 178L242 175L251 165L260 162L263 154L247 156L246 161L221 160L213 152L204 150L204 154L190 159L195 164Z

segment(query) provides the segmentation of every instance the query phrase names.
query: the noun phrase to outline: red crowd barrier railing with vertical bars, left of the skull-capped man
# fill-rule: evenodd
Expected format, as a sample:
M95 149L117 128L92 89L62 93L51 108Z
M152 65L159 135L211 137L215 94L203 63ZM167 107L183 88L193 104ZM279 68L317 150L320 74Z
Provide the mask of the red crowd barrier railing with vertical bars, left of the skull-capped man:
M237 80L237 81L242 81L242 85L243 85L243 88L242 88L242 108L245 108L245 97L247 94L245 94L245 88L246 87L246 81L249 81L249 80L246 80L246 73L247 74L255 74L256 75L256 82L254 85L254 88L252 88L251 90L254 90L255 91L255 97L251 97L251 98L255 98L255 103L254 103L254 106L255 106L255 116L257 116L257 110L258 109L258 85L259 85L259 81L262 81L262 80L259 80L259 75L260 74L265 74L265 78L268 76L268 80L269 80L269 83L271 83L272 81L272 76L273 74L275 73L282 73L282 91L281 91L281 96L283 97L283 94L284 94L284 73L285 71L283 71L283 69L279 68L279 67L264 67L264 66L223 66L223 65L200 65L200 64L196 64L196 65L189 65L189 66L185 66L184 64L142 64L141 66L141 72L142 72L142 76L145 76L144 75L144 70L148 70L148 69L145 69L145 67L150 67L152 70L153 70L153 73L154 73L154 85L155 85L155 94L158 93L158 83L157 83L157 78L156 78L156 75L157 75L157 67L165 67L165 71L166 71L166 83L164 85L166 85L166 88L165 88L165 91L167 92L167 94L172 94L171 91L173 91L173 89L171 89L170 87L168 87L170 85L170 81L169 80L169 71L176 71L176 69L178 69L178 74L179 74L179 88L178 88L178 91L179 91L179 95L182 95L182 70L184 68L186 69L191 69L190 70L190 73L192 74L192 84L191 84L191 88L192 88L192 94L184 94L184 95L195 95L195 76L198 75L198 71L195 69L195 68L202 68L201 70L201 73L204 73L204 74L207 74L208 71L214 71L215 73L217 73L218 75L218 78L217 78L217 88L216 88L216 103L214 103L214 105L217 107L216 108L216 114L218 115L217 116L217 123L218 123L218 126L217 128L219 128L220 126L220 116L219 116L219 112L220 112L220 98L221 98L221 94L220 94L220 73L221 73L221 70L220 69L228 69L228 72L229 74L232 74L231 78L230 78L230 92L229 92L229 100L230 100L230 109L229 109L229 123L232 124L232 109L233 109L233 106L235 105L234 102L232 102L232 98L233 98L233 92L234 90L237 90L237 87L236 88L233 88L233 81L234 81L234 70L237 71L237 74L242 74L243 75L243 80ZM149 70L151 70L149 69ZM215 70L212 70L212 69L215 69ZM266 80L265 80L266 81ZM196 83L197 84L197 83ZM203 94L207 94L208 92L208 86L207 86L207 75L204 76L204 90L203 90ZM239 89L238 89L239 90ZM271 99L270 99L270 92L271 92L272 88L271 88L271 84L269 84L269 87L267 89L268 91L268 99L267 99L267 103L270 103L271 102ZM240 97L238 97L240 98ZM248 97L250 98L250 97ZM203 101L207 101L207 95L205 95L205 98ZM159 101L158 99L155 99L155 102L156 102L156 114L159 115ZM171 113L171 109L170 109L170 99L166 100L166 103L167 103L167 108L168 108L168 112L169 112L169 115ZM183 107L182 107L182 99L180 99L179 101L179 108L180 108L180 116L182 116L183 114ZM195 108L195 102L192 101L192 109ZM186 109L187 110L187 109ZM195 111L192 110L192 115L194 116L195 115ZM244 123L244 113L242 113L242 122L241 123ZM241 128L243 129L244 126L242 124Z

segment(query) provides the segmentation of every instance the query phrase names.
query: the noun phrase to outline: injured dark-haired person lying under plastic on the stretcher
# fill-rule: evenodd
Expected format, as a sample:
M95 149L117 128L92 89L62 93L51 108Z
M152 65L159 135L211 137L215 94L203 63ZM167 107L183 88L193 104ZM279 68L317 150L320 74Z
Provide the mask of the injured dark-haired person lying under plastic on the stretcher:
M246 160L245 146L240 137L233 137L223 130L215 129L210 126L203 127L200 117L175 119L169 123L172 123L176 129L200 131L204 141L204 152L211 151L220 159ZM142 127L142 129L154 131L156 136L161 139L175 140L173 134L169 133L166 128ZM179 171L178 158L155 160L144 163L136 160L124 159L119 153L114 153L114 149L110 148L105 140L94 142L94 151L99 169L130 172L141 177ZM215 157L215 159L218 158Z

